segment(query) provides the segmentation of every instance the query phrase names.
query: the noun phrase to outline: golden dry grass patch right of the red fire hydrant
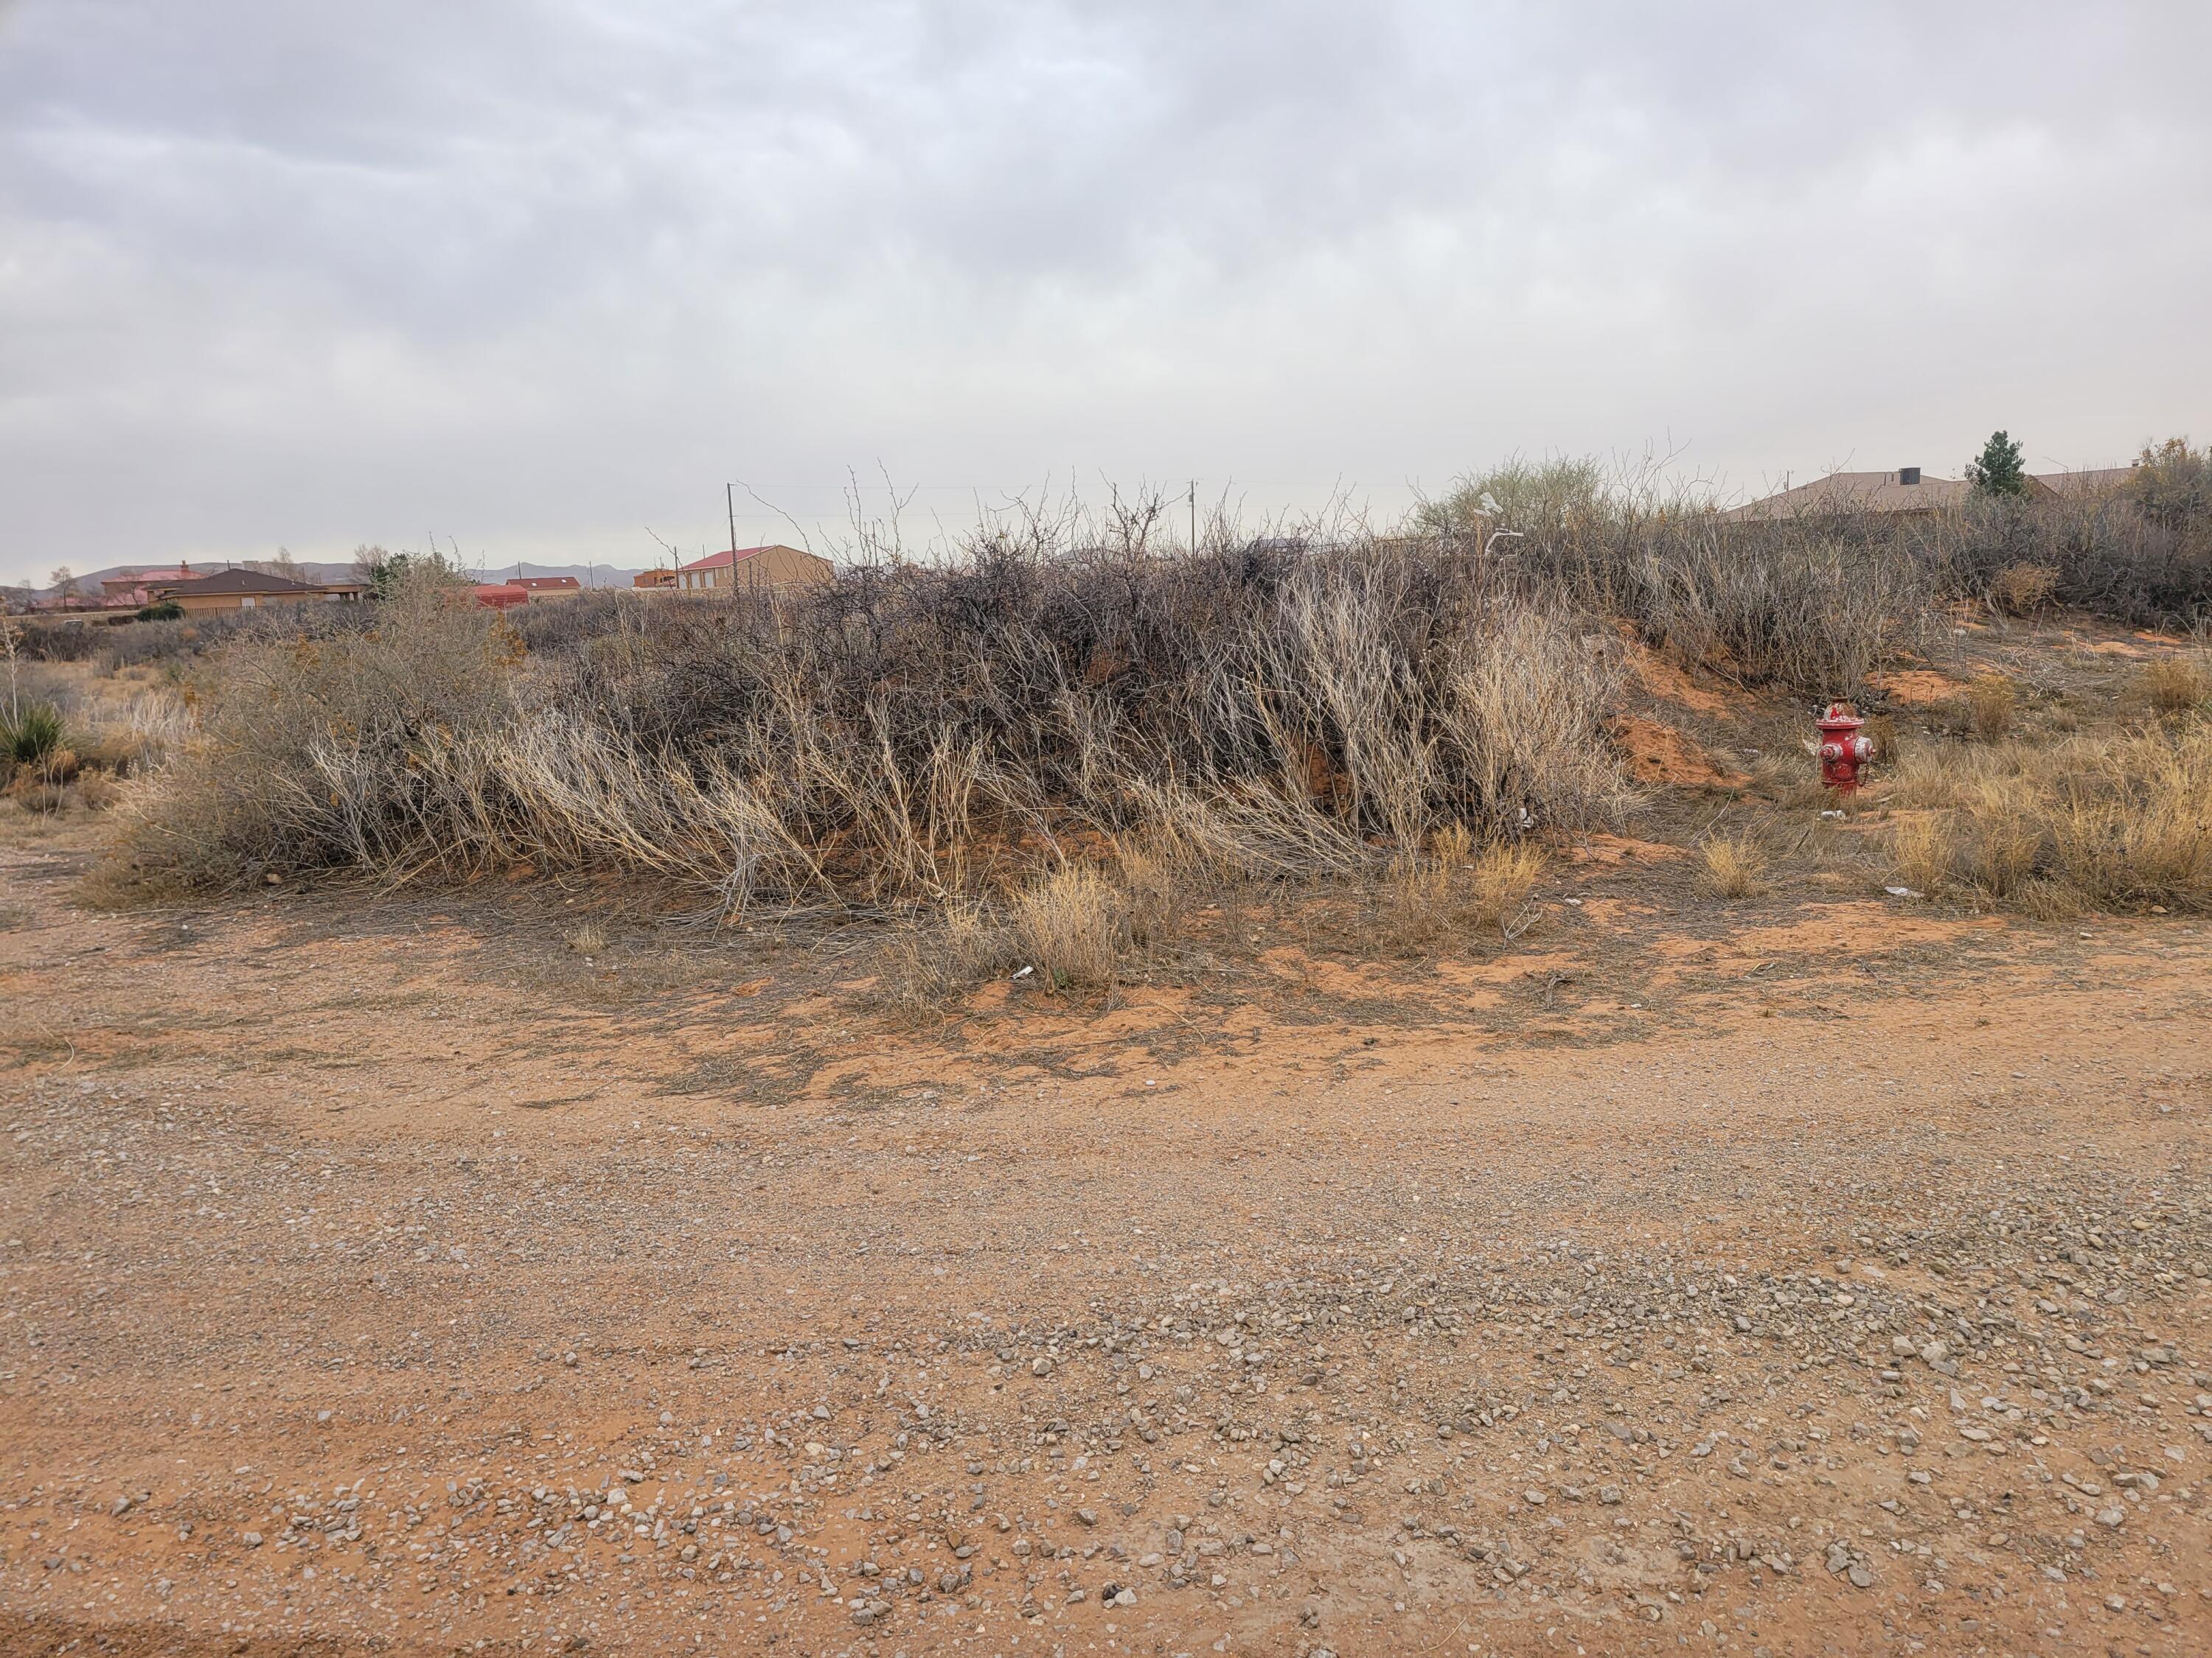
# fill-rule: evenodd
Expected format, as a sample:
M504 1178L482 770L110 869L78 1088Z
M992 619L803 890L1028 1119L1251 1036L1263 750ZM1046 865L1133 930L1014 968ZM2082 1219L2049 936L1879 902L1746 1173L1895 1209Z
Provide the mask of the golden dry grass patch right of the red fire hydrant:
M1960 758L1953 749L1949 758ZM1916 891L2035 915L2212 906L2212 725L1916 760L1891 840Z

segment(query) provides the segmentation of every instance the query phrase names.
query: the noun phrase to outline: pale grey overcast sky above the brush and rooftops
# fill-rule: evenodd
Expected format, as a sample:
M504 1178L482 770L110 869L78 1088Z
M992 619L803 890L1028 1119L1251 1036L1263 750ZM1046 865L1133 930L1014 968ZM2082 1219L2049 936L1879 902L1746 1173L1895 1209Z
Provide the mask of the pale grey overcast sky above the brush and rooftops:
M847 469L922 542L2110 464L2212 436L2208 62L2201 0L0 0L0 579L641 566Z

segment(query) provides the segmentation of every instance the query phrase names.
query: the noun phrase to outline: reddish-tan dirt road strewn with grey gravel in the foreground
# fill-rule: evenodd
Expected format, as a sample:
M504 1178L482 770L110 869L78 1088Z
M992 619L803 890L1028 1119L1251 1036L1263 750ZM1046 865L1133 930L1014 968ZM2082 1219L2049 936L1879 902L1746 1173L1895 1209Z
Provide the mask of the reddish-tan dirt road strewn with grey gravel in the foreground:
M0 1649L2212 1649L2201 924L914 1035L80 862L0 869Z

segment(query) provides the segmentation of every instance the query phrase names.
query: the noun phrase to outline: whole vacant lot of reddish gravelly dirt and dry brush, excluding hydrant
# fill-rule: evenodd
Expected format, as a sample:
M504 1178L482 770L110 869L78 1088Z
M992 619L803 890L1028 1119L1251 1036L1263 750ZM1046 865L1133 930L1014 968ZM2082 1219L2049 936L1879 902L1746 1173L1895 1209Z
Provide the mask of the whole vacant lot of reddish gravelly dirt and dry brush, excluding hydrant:
M0 1649L2212 1649L2126 522L49 652Z

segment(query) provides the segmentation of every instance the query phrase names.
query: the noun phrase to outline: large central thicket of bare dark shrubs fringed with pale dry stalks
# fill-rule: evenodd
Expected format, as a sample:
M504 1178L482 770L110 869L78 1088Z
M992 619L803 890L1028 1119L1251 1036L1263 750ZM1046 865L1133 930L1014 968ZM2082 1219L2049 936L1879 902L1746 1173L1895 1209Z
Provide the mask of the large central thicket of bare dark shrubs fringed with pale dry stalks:
M1604 641L1436 548L982 548L794 599L615 601L535 650L427 586L387 612L232 646L133 820L137 873L619 869L852 913L995 900L1135 840L1367 875L1440 825L1577 829L1628 798ZM1073 906L1031 937L1099 931L1084 880L1022 900Z

